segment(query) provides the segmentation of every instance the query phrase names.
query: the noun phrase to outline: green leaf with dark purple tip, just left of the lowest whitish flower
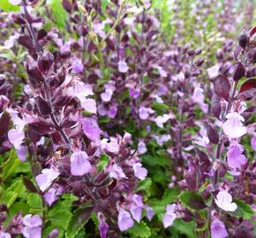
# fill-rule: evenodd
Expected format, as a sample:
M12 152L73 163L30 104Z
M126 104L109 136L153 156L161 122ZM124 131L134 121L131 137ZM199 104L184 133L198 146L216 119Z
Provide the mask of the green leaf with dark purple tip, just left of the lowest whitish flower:
M192 211L202 210L207 207L203 197L197 192L184 191L179 195L179 199L184 207Z

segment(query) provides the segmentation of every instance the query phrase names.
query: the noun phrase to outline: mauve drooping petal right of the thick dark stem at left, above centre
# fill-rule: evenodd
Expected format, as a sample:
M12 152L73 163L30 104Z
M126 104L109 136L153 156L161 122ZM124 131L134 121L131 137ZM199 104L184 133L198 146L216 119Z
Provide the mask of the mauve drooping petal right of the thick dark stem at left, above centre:
M96 121L91 118L82 118L80 121L82 123L82 128L87 138L98 142L100 140L102 130L99 128Z

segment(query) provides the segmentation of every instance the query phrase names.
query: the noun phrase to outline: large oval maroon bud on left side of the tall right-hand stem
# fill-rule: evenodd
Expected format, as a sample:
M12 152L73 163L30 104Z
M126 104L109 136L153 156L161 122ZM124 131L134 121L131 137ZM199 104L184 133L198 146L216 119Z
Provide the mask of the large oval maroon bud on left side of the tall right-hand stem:
M219 75L214 81L215 93L224 100L229 101L230 98L230 82L223 75Z

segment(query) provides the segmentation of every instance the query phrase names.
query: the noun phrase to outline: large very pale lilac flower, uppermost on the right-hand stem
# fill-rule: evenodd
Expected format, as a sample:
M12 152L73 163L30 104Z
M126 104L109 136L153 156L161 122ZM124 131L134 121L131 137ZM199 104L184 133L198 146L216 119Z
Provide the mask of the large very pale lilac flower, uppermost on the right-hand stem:
M242 122L245 118L237 112L226 115L227 121L223 123L223 131L229 138L241 138L246 134L246 128Z

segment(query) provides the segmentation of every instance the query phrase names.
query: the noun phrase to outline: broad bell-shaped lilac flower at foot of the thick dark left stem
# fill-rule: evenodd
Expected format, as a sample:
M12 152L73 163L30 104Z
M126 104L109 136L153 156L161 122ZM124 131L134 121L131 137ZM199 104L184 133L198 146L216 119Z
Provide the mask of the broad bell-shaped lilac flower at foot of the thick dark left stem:
M71 155L72 175L82 176L90 172L92 166L89 162L87 152L78 151Z

